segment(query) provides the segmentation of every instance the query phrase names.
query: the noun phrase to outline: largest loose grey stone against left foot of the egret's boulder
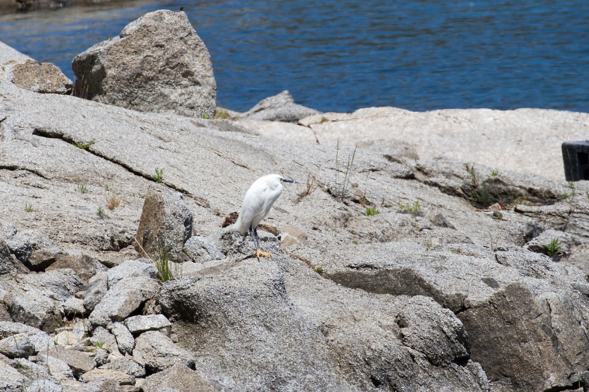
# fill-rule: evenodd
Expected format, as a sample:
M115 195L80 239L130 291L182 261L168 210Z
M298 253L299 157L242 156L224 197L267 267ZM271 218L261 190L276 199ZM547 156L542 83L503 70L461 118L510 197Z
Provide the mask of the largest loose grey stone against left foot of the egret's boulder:
M133 358L150 372L162 371L174 364L193 368L194 357L187 350L178 347L160 331L147 331L135 339Z

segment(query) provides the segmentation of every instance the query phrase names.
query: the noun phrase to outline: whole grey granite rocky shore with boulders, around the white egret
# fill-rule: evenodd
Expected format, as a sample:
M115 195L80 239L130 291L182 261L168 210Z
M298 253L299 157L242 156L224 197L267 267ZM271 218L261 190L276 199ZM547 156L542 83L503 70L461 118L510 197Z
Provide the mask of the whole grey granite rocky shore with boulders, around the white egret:
M77 90L2 46L0 391L589 388L588 186L557 159L587 114L233 113L184 19L81 53ZM221 226L271 172L300 184L257 260Z

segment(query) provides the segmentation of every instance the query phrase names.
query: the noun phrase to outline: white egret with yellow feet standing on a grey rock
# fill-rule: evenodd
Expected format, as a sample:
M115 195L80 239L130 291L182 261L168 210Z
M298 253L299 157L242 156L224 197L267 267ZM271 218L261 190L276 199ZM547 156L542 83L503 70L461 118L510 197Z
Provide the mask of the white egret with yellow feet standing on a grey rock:
M235 224L241 234L245 234L248 231L250 232L252 240L254 241L254 247L256 248L254 257L257 257L258 259L260 259L260 256L272 257L272 254L260 250L260 239L257 235L257 226L260 224L260 221L268 215L270 208L272 208L272 205L276 202L280 193L282 193L283 182L298 183L277 174L269 174L260 177L254 181L252 186L250 186L250 189L247 190L246 196L243 198L243 203L241 204L241 209L239 210L239 217Z

